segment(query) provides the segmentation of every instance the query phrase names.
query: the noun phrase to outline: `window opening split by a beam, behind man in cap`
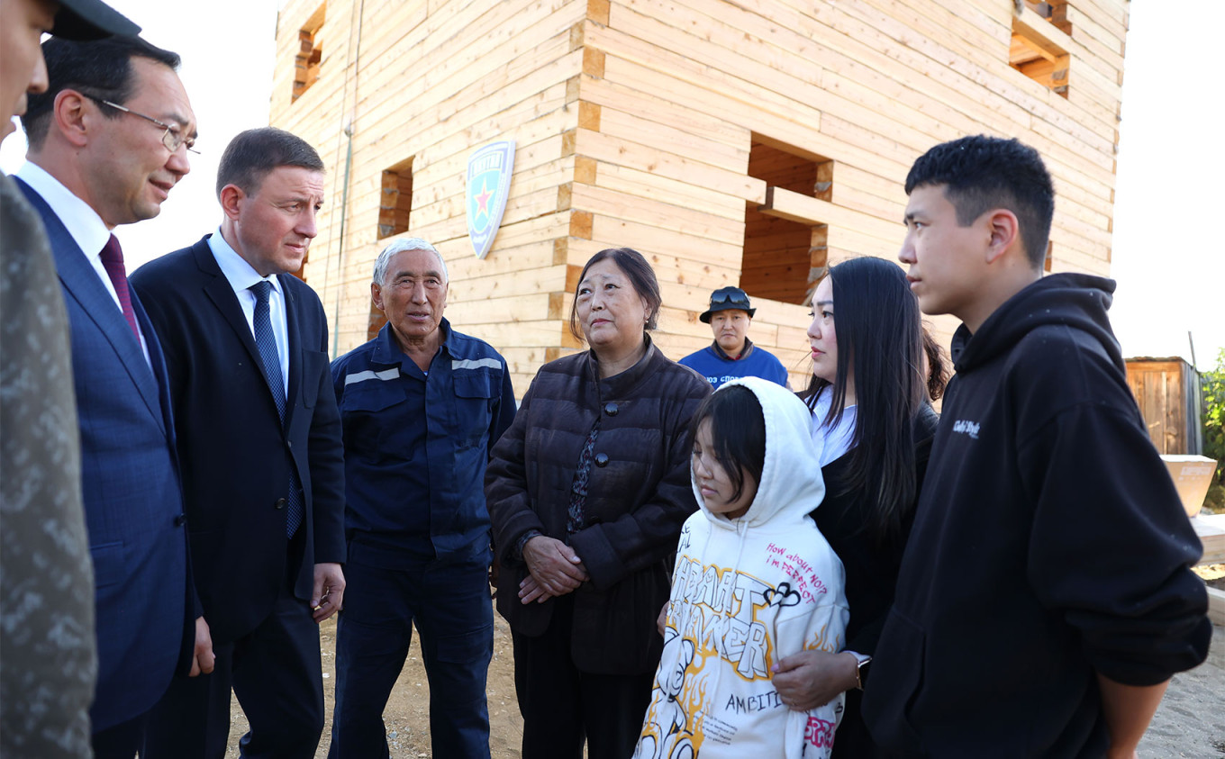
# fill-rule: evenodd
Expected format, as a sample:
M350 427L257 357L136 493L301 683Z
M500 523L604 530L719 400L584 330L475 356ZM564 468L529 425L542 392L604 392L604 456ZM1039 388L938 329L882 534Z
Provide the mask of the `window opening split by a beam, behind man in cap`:
M801 154L774 141L767 144L753 135L748 175L764 180L771 189L829 201L833 168L833 160ZM747 204L740 286L750 296L804 305L824 274L827 235L826 224L783 219Z

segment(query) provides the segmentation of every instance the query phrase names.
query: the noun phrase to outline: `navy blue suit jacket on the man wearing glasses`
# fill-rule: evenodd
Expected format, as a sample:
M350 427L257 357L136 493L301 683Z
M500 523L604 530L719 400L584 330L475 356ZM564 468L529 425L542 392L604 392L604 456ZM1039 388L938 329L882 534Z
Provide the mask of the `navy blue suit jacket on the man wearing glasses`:
M191 583L167 371L140 299L132 295L132 308L148 361L59 217L16 181L47 226L71 328L98 635L89 716L98 732L157 703L195 633L185 624Z

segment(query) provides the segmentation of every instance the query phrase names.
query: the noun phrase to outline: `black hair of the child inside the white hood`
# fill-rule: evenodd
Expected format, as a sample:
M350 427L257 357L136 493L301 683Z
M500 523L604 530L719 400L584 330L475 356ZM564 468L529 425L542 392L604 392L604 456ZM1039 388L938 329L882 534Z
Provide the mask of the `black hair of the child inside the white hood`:
M745 475L761 485L766 468L766 414L757 395L741 384L719 388L706 397L690 422L690 439L697 443L697 428L710 422L710 453L736 487L731 501L745 492Z

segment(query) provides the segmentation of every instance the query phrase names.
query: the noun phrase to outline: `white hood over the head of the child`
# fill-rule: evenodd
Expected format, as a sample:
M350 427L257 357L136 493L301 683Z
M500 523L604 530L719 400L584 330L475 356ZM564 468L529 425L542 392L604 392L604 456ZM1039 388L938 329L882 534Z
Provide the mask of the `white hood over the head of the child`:
M737 524L741 528L757 528L784 512L788 520L804 519L826 496L826 484L817 464L821 452L812 439L812 411L791 391L760 377L741 377L720 386L715 392L722 393L735 386L752 391L766 417L766 465L762 466L762 479L745 515L728 519L707 509L697 477L691 470L690 481L698 507L712 524L726 530L735 530Z

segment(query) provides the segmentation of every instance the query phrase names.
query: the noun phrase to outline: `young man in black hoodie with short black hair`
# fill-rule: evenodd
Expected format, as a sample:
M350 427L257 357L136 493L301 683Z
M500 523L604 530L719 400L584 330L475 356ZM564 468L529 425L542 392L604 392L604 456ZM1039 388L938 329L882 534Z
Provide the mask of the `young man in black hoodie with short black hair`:
M865 717L900 755L1133 757L1212 626L1115 283L1042 277L1054 190L1016 140L936 146L907 195L910 288L964 323Z

